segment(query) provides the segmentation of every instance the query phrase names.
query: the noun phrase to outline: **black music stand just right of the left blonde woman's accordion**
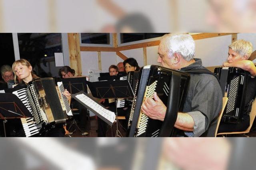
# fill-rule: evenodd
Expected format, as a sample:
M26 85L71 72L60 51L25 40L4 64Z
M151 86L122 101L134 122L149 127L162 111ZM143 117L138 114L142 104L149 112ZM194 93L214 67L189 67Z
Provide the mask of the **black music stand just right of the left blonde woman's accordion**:
M77 77L69 77L61 80L64 86L64 89L70 92L70 94L79 93L80 91L84 91L87 93L87 85L86 85L86 76L77 76ZM71 102L71 109L73 112L73 103ZM73 114L74 115L74 114ZM90 122L89 122L90 123ZM73 118L72 123L68 130L75 125L75 127L83 134L84 132L78 127L76 120Z

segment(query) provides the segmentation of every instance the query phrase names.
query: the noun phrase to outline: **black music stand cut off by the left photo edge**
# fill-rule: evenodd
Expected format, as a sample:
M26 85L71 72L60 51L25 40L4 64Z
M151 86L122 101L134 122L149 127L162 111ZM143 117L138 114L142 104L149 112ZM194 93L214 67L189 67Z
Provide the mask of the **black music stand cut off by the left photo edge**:
M7 119L20 119L26 117L32 117L32 115L16 95L11 93L0 93L0 119L3 120L5 137L5 123L7 122Z

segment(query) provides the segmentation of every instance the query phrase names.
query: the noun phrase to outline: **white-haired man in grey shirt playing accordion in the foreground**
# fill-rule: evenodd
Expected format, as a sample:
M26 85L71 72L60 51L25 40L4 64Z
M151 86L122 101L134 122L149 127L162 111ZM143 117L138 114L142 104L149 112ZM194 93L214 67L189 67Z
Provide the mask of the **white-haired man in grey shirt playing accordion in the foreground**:
M195 42L189 34L166 34L158 47L158 62L170 69L190 71L205 69L202 60L194 58ZM156 93L146 98L142 111L152 119L164 121L166 106ZM222 91L214 75L190 73L182 112L174 127L181 136L214 136L218 114L222 108Z

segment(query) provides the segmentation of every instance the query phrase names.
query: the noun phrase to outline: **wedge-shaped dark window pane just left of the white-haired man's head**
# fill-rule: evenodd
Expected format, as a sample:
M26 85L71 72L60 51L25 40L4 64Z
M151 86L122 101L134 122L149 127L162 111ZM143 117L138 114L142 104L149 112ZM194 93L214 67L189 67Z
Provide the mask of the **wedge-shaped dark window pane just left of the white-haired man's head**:
M166 33L121 33L121 43L135 42L139 40L146 40L150 38L161 37Z

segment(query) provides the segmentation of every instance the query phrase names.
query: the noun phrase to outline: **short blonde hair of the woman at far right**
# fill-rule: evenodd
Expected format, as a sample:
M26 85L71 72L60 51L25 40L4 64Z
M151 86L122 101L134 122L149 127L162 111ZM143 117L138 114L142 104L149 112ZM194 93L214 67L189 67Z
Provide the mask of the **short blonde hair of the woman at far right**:
M230 47L236 53L239 53L241 57L244 55L250 57L252 54L252 43L245 40L236 40L228 47Z

